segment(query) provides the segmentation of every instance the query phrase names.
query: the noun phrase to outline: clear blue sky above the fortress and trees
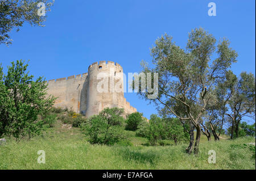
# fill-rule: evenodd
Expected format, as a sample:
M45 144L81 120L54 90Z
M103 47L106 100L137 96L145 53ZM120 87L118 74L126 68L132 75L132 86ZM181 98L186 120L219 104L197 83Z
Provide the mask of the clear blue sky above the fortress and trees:
M217 16L208 16L209 2L216 3ZM22 59L30 60L31 74L47 80L85 73L100 60L118 62L126 74L139 72L139 63L151 61L150 47L164 32L184 48L188 32L203 27L217 40L231 41L239 55L234 73L255 75L254 0L56 0L51 9L46 27L24 24L19 32L11 32L13 45L0 45L4 71L11 61ZM125 97L147 118L156 113L135 93Z

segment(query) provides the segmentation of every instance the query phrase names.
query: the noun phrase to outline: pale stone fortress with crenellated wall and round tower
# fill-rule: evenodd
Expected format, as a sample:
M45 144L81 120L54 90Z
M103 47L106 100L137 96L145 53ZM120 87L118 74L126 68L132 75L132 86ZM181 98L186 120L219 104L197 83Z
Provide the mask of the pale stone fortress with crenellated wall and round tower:
M137 111L123 96L122 66L112 61L94 62L88 73L49 80L47 93L57 97L55 107L67 107L86 117L97 115L106 107L123 108L125 115Z

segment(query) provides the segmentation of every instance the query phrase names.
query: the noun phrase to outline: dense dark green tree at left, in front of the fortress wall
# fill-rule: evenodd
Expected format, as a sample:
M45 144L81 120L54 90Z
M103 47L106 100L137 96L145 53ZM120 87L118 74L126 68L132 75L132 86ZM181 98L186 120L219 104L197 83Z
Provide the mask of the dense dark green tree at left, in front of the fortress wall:
M0 68L0 136L11 134L16 140L42 132L43 121L38 115L51 110L55 98L47 95L47 83L42 77L32 80L23 61L11 62L7 75Z

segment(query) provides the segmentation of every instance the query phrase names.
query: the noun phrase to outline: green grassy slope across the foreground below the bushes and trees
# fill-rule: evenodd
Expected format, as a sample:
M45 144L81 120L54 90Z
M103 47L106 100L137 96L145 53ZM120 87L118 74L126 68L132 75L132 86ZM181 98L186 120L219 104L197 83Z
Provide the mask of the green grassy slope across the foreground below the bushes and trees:
M188 143L143 146L146 138L127 133L133 146L91 145L78 128L56 123L30 141L7 140L0 146L0 169L255 169L255 147L243 145L253 137L208 142L202 135L196 157L185 153ZM45 164L37 162L38 150L46 151ZM209 150L216 151L216 164L208 163Z

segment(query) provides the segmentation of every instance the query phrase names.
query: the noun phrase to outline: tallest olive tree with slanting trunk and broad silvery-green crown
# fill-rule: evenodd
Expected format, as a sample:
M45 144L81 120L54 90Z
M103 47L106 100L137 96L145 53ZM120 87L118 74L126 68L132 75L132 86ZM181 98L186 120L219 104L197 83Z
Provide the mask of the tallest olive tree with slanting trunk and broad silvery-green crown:
M171 115L182 121L189 120L195 127L195 154L199 152L200 120L212 98L210 90L225 77L230 65L236 62L237 53L229 48L229 44L228 40L223 39L216 47L216 39L212 35L203 28L196 28L189 33L186 49L182 49L166 34L157 39L151 49L154 68L142 63L143 73L158 73L158 97L150 101L159 107L166 106ZM214 53L217 53L217 58L211 60ZM147 82L141 83L147 85ZM154 85L154 81L150 83ZM145 92L142 87L139 95L147 99L152 93ZM179 115L179 111L168 105L174 101L183 105L185 115ZM188 150L190 154L192 149Z

